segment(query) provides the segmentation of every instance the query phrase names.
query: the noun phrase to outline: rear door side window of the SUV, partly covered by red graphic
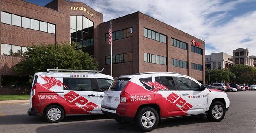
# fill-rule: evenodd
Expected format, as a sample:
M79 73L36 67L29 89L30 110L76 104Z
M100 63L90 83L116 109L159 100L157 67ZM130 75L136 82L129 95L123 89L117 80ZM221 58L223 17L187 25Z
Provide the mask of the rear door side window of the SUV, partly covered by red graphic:
M169 90L175 90L174 80L172 77L156 77L155 79L156 79L156 82L167 87Z

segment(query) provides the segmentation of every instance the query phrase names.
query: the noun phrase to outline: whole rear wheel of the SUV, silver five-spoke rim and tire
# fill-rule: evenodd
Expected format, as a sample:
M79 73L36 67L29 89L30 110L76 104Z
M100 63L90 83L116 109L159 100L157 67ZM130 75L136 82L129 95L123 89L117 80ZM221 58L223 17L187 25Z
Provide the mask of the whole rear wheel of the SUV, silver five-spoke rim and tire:
M159 122L159 116L154 108L142 108L135 118L135 124L143 132L154 130Z

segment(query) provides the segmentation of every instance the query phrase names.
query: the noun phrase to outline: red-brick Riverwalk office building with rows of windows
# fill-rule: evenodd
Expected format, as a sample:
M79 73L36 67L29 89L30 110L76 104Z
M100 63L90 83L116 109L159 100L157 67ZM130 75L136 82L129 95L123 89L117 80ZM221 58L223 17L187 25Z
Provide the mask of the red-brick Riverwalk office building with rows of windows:
M20 79L11 68L32 42L75 41L77 49L92 54L99 69L110 73L109 21L103 23L103 14L86 4L53 0L42 7L0 0L0 11L2 91L14 87L10 80ZM204 82L204 41L140 12L113 19L112 31L113 76L178 72Z

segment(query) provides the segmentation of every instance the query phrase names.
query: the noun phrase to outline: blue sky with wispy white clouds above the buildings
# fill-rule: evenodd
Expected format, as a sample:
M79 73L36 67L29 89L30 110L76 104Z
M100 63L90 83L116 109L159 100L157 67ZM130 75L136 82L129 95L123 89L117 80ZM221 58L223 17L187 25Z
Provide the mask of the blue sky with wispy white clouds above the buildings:
M44 6L52 0L26 0ZM103 14L103 22L140 11L205 40L205 54L248 48L256 55L256 0L68 0Z

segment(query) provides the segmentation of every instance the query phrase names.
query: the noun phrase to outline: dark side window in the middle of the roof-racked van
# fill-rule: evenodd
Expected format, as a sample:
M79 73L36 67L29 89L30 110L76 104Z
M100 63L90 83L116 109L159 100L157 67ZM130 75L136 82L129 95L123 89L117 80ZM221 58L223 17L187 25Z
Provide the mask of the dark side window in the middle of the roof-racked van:
M64 90L97 91L96 78L63 78Z

